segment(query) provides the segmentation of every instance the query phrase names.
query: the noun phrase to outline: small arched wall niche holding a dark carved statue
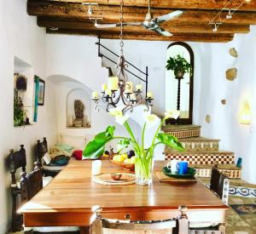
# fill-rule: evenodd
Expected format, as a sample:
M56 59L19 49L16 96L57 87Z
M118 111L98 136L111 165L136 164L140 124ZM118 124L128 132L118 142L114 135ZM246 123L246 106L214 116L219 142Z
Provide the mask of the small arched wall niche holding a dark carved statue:
M81 112L79 115L75 110L76 100L79 100L79 112ZM68 92L66 100L67 128L90 128L90 102L90 95L83 88L73 88Z

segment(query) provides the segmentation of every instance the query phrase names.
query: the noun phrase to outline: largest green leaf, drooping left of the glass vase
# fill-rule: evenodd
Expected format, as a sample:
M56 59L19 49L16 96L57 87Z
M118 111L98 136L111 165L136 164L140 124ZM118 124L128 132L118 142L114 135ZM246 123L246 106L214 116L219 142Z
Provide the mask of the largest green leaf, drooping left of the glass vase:
M114 130L114 126L108 126L105 132L96 134L94 139L90 140L90 142L85 146L83 157L88 159L96 159L97 157L100 157L105 151L105 145L109 140L113 139Z

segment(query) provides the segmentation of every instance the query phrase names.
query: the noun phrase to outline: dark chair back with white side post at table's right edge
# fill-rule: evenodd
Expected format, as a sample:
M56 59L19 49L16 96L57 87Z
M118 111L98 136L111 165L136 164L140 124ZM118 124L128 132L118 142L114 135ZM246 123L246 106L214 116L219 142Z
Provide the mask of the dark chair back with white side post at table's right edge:
M229 200L229 187L230 180L228 176L220 172L218 169L218 164L215 164L212 168L210 189L214 191L226 205L228 204Z

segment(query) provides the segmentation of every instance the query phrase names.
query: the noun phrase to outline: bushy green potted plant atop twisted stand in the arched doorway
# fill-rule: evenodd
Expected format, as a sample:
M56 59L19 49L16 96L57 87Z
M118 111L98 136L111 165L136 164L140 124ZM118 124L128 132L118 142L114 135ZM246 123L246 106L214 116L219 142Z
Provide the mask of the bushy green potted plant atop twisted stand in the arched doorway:
M192 71L192 66L185 58L177 54L167 60L166 69L174 71L175 77L182 78L185 73Z

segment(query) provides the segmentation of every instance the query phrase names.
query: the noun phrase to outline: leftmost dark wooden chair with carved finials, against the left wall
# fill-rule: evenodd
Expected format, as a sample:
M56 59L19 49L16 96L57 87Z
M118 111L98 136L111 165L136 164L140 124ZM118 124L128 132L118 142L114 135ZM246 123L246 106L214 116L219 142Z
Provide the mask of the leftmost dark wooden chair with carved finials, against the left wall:
M22 215L17 213L17 198L20 195L20 178L16 178L16 171L21 168L22 172L26 172L26 151L24 146L20 146L20 151L9 151L9 170L12 178L11 196L12 196L12 221L11 230L22 230Z

